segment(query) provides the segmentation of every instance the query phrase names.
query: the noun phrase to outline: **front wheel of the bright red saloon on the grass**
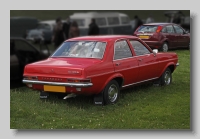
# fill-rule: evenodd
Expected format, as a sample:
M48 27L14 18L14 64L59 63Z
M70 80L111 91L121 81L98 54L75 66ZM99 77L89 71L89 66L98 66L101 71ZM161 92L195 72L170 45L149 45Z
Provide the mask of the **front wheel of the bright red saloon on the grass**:
M160 78L160 85L161 86L169 85L171 84L171 82L172 82L171 70L167 68Z

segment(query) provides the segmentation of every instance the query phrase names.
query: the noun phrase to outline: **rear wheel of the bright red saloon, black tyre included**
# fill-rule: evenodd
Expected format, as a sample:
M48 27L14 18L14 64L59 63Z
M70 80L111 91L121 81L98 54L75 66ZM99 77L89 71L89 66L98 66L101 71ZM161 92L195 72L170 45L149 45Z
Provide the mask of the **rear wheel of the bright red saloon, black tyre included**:
M104 89L104 104L107 105L116 103L119 98L119 93L120 89L117 81L110 81Z

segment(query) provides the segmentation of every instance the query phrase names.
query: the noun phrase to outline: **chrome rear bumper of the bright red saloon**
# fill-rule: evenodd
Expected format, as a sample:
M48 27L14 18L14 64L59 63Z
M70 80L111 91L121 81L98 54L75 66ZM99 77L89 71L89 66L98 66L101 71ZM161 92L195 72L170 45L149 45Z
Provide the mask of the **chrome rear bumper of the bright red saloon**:
M65 83L65 82L45 82L37 80L22 80L25 84L41 84L41 85L56 85L56 86L70 86L70 87L90 87L92 83Z

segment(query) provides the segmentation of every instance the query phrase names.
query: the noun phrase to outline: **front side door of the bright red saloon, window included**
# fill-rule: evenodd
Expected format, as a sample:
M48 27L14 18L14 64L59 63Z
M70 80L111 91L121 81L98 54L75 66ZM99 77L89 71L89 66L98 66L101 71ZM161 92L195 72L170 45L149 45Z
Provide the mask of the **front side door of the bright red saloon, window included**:
M139 64L138 82L158 77L157 57L139 40L130 40Z

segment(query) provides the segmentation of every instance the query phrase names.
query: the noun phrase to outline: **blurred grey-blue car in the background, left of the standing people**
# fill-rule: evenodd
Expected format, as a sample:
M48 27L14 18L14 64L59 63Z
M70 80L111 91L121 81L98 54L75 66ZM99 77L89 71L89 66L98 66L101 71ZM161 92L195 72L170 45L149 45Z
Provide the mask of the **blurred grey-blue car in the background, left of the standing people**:
M55 20L40 21L36 28L27 30L26 39L32 40L35 43L51 43L55 24Z

